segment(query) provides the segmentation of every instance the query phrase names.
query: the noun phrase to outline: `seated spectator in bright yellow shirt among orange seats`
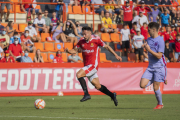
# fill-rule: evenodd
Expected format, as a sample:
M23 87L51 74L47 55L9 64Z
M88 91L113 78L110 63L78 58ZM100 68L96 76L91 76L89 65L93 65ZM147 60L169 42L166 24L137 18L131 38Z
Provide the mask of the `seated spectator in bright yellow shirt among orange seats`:
M112 26L112 20L109 17L109 12L106 12L105 17L102 19L102 24L101 24L102 28L101 31L105 32L105 33L117 33L118 30L117 29L113 29Z

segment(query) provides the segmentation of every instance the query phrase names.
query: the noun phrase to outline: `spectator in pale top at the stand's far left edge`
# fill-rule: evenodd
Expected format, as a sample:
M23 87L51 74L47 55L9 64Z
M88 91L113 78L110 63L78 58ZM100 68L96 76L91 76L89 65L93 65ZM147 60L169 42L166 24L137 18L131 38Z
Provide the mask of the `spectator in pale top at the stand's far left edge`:
M2 49L5 51L9 47L9 36L6 34L6 28L3 29L1 35L0 35L0 42L2 45Z

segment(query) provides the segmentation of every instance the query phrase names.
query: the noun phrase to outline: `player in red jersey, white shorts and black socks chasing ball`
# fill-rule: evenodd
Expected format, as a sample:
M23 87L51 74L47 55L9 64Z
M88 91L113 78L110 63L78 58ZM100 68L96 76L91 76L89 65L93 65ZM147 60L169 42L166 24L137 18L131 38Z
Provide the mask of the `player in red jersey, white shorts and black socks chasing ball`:
M101 85L99 82L99 78L97 75L99 64L99 46L105 47L107 50L109 50L116 57L116 59L122 61L122 58L119 57L114 52L114 50L106 45L102 40L92 38L90 27L83 27L82 33L84 38L77 43L76 47L72 50L66 49L66 52L70 54L77 53L78 49L82 49L84 67L80 69L76 74L84 91L84 97L80 101L83 102L91 99L86 86L86 81L84 79L84 77L87 77L97 90L110 96L114 101L115 106L117 106L118 101L116 99L116 93L110 92L104 85Z

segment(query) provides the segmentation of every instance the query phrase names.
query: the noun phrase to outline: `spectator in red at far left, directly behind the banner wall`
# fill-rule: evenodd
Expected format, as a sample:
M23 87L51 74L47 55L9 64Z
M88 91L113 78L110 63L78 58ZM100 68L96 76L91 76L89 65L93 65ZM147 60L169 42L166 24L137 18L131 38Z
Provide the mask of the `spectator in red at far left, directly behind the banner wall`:
M9 54L9 50L5 51L5 57L1 59L2 63L15 63L15 60L12 56Z

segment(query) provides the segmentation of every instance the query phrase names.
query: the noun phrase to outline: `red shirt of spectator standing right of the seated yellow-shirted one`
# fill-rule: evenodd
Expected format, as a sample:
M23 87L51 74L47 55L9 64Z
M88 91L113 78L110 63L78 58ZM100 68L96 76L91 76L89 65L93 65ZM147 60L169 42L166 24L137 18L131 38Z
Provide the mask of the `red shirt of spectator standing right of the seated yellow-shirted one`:
M129 7L123 6L123 11L124 11L124 21L132 21L133 19L132 6Z

